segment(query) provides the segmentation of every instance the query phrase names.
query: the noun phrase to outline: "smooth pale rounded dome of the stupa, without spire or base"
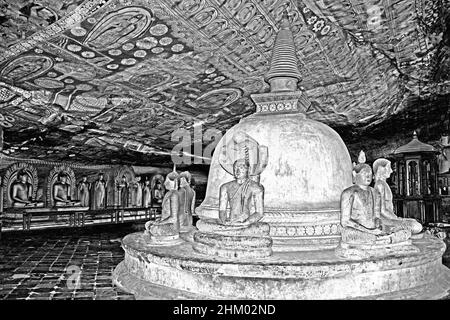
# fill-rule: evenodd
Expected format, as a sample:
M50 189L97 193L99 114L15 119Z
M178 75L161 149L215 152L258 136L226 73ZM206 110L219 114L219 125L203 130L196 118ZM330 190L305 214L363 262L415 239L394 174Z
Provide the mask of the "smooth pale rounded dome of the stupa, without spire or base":
M205 201L199 214L216 216L219 187L233 180L219 164L219 152L237 132L245 132L269 150L261 173L265 211L331 212L337 221L342 190L352 184L352 164L340 136L327 125L301 114L253 115L227 131L212 157Z

